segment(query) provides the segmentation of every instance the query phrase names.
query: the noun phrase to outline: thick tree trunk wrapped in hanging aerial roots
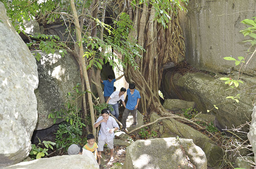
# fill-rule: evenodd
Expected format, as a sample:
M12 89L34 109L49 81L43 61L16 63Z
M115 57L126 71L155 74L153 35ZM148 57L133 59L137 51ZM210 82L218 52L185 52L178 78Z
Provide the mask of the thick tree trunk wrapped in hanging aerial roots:
M127 4L129 9L129 2ZM136 58L140 69L134 70L127 65L125 79L129 83L135 83L136 89L140 91L140 112L149 115L149 112L156 111L168 115L169 113L160 103L158 91L165 64L177 63L178 57L184 57L184 40L178 17L169 14L172 20L167 24L168 28L164 29L157 20L154 20L155 9L151 5L137 6L129 14L130 18L133 18L134 26L130 36L136 38L146 52L143 53L142 58Z

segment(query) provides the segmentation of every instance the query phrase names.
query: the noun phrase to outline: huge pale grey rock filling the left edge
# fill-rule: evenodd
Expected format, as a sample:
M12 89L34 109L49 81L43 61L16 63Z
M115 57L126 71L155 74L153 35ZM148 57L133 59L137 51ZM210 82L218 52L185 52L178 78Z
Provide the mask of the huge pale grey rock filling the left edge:
M0 2L0 168L18 163L31 149L37 122L35 57L12 27Z

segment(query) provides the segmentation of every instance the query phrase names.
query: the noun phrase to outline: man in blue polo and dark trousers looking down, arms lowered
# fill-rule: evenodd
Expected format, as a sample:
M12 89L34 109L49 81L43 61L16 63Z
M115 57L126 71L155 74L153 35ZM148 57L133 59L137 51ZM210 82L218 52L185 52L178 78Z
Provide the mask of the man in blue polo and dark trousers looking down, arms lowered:
M127 89L127 96L128 101L125 106L125 111L122 115L123 131L125 131L126 129L126 120L130 112L134 119L134 123L132 124L132 126L135 127L137 125L137 108L140 101L140 92L135 89L135 84L129 84L129 89Z

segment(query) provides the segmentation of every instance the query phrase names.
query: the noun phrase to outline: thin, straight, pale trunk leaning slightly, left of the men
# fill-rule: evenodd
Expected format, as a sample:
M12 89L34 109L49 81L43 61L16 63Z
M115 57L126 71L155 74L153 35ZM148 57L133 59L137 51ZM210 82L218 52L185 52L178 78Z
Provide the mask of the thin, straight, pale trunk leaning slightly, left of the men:
M70 6L71 6L71 9L72 9L72 12L73 12L73 15L74 15L74 20L75 20L76 38L79 42L79 44L78 44L79 45L79 57L81 58L81 61L82 61L81 65L82 65L82 68L83 68L84 80L85 80L85 83L86 83L87 90L89 91L89 92L87 92L87 94L88 94L88 101L89 101L89 105L90 105L90 115L91 115L91 123L92 123L92 128L93 128L93 135L96 137L96 129L93 127L93 124L95 122L94 113L93 113L93 100L92 100L92 95L90 93L91 90L90 90L90 83L89 83L89 79L88 79L88 74L87 74L87 71L86 71L86 63L85 63L85 60L83 58L84 49L83 49L83 44L82 44L82 36L81 36L79 18L78 18L77 12L76 12L76 7L75 7L74 0L70 0Z

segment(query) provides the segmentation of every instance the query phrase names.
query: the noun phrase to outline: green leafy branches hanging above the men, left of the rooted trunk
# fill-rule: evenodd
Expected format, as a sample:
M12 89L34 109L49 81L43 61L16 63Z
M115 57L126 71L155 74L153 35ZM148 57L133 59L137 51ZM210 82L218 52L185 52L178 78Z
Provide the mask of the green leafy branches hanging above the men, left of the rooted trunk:
M123 68L126 68L125 64L128 63L137 69L137 63L135 62L135 57L141 58L140 52L145 52L142 46L136 43L134 38L131 40L128 38L129 32L132 29L132 21L129 19L128 14L121 13L119 20L114 20L114 27L111 27L105 23L100 22L95 19L99 26L102 26L108 31L108 35L104 34L104 40L100 40L98 37L84 37L83 43L86 44L86 50L83 57L87 57L89 64L87 69L91 66L96 66L102 69L102 65L109 62L109 64L114 67L120 64ZM122 54L123 59L116 56L112 48ZM99 58L99 53L102 53L102 58ZM98 54L98 55L97 55ZM116 63L114 59L118 60Z

